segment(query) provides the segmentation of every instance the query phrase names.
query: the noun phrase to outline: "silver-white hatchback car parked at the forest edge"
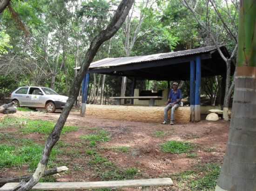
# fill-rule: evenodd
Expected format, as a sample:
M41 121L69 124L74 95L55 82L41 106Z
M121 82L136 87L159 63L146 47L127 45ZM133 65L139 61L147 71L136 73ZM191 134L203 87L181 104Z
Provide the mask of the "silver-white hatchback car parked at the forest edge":
M11 94L16 107L46 108L49 113L64 108L67 98L46 87L20 87Z

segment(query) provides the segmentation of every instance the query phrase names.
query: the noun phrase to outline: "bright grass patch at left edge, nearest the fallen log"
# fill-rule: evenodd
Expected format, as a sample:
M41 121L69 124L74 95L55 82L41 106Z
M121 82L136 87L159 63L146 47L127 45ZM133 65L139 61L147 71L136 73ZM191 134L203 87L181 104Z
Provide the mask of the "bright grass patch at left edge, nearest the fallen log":
M29 165L30 170L34 170L41 159L43 146L30 144L24 146L0 145L0 168L11 166ZM52 150L49 166L56 158L58 151Z

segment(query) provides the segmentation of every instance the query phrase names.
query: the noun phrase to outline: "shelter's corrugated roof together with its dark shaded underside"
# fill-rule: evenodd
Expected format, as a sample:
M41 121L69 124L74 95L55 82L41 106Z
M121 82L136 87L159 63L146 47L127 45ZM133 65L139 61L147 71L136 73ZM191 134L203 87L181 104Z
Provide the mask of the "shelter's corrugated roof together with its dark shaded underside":
M225 56L229 56L225 46L220 48ZM197 56L201 57L202 77L226 75L226 63L215 46L147 56L105 58L92 63L89 72L148 80L189 80L190 61ZM234 70L231 64L232 75Z

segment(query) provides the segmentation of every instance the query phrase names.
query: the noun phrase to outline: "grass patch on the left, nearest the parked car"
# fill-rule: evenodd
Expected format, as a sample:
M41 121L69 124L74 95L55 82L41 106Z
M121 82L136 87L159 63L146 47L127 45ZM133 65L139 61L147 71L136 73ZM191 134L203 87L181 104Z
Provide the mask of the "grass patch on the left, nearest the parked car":
M0 122L0 127L21 127L20 131L24 134L30 133L40 133L40 134L50 134L54 129L54 122L43 121L43 120L30 120L23 118L11 118L5 117L3 121ZM61 134L65 134L71 131L76 131L78 127L74 126L64 126Z

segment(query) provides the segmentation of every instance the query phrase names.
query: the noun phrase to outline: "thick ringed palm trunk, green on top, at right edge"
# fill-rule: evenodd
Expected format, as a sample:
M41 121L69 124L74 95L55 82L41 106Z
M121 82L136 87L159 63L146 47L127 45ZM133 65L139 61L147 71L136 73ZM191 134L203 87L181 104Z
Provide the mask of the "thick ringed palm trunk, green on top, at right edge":
M241 0L227 150L216 191L256 191L256 0Z

